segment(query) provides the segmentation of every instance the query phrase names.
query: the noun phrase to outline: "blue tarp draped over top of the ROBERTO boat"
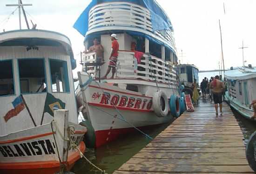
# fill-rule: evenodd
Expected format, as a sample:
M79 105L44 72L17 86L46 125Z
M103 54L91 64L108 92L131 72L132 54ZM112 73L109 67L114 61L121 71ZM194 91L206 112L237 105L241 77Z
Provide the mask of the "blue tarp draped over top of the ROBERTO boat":
M157 30L173 30L171 21L169 20L166 13L162 8L155 2L155 0L119 0L122 2L130 2L142 7L147 8L150 11L150 17L152 22L153 32ZM79 18L74 23L74 28L85 36L88 31L88 17L89 11L96 4L104 2L116 2L116 0L91 0L90 4L86 9L81 13Z

